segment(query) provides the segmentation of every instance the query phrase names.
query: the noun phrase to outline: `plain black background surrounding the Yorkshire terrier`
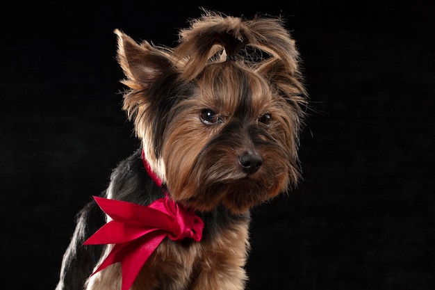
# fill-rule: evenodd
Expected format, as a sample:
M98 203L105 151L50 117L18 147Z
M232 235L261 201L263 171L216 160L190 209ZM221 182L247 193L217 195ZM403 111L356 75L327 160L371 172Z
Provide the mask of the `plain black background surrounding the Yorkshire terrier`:
M313 108L304 180L252 211L247 288L435 289L433 1L153 2L2 4L1 288L54 289L76 211L139 145L113 29L173 46L204 6L284 16Z

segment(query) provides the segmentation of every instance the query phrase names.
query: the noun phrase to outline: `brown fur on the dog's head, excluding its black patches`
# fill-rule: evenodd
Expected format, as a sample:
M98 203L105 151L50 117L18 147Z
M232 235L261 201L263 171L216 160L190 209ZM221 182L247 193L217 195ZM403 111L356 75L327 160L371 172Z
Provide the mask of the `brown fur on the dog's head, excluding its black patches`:
M208 35L204 31L211 31ZM249 59L229 62L225 61L227 51L234 52L231 38L223 38L222 35L234 33L236 39L240 39L239 45L249 46L252 49L258 49L271 54L271 57L263 61L250 61ZM243 31L238 32L238 31ZM290 38L288 32L283 28L279 19L258 18L252 21L243 22L240 18L222 17L216 13L207 13L201 19L192 21L190 29L181 31L181 44L175 49L158 49L152 47L148 42L142 42L140 46L131 38L116 31L120 38L118 60L126 76L124 83L132 88L131 92L126 94L124 109L129 113L131 119L135 121L136 133L145 143L144 148L147 150L147 160L151 167L158 175L167 182L167 187L172 193L172 198L177 202L188 204L198 210L213 209L220 199L216 200L199 200L199 202L188 202L192 193L202 192L198 186L202 186L204 180L199 180L204 176L205 167L210 164L202 163L202 169L197 174L192 174L194 161L216 133L219 127L204 127L199 122L197 115L202 108L213 108L221 112L223 116L231 116L236 111L236 106L240 103L240 97L245 97L243 84L240 79L245 79L249 83L247 88L252 93L252 108L249 116L256 122L256 119L263 113L271 113L274 116L274 122L271 130L277 132L273 138L277 138L283 146L279 150L286 152L277 152L270 147L263 148L262 154L268 154L268 158L279 162L284 158L286 162L282 164L274 163L272 168L262 168L258 172L257 188L252 189L251 200L240 200L239 204L233 204L234 197L227 197L227 205L233 207L234 211L246 211L254 204L259 204L265 200L274 197L287 186L295 185L299 178L297 164L297 143L299 128L302 122L303 111L301 106L306 103L305 90L301 83L301 75L298 70L298 53L295 49L295 42ZM231 40L231 41L230 41ZM225 42L228 41L228 42ZM248 45L247 45L248 44ZM231 48L231 49L229 49ZM240 48L239 48L240 49ZM216 51L222 51L220 57L211 58ZM148 67L144 67L147 63ZM174 70L181 72L179 79L181 81L195 81L196 88L194 96L175 106L170 115L165 118L172 120L169 127L166 128L163 136L162 156L158 158L154 153L155 144L149 144L153 134L153 127L149 123L156 118L151 110L154 108L147 103L147 96L144 89L149 88L151 83L167 72ZM201 74L200 78L197 78ZM197 78L197 79L195 79ZM270 86L270 83L274 86ZM180 98L183 96L179 96ZM147 116L147 118L142 118ZM279 136L279 133L285 131L287 135ZM241 136L243 138L243 136ZM282 139L282 140L280 140ZM234 162L231 156L237 156L237 150L245 150L246 144L238 146L239 148L229 147L224 144L222 147L214 150L222 150L221 156L226 159L220 159L213 163L213 174L205 175L208 179L216 178L236 180L240 179L238 172L233 172ZM160 147L160 146L158 146ZM236 152L228 152L228 150ZM176 155L176 156L174 156ZM206 154L204 154L206 155ZM170 167L164 168L167 162L172 161ZM288 166L288 160L293 163ZM207 160L214 162L213 160ZM219 172L220 176L215 176ZM283 174L273 172L282 172ZM233 175L233 176L231 176ZM279 179L280 182L273 186L266 185L270 180ZM208 184L204 184L208 187ZM243 188L243 186L240 186ZM228 191L238 191L240 188L228 188ZM251 195L251 196L252 196ZM246 198L246 196L244 197Z

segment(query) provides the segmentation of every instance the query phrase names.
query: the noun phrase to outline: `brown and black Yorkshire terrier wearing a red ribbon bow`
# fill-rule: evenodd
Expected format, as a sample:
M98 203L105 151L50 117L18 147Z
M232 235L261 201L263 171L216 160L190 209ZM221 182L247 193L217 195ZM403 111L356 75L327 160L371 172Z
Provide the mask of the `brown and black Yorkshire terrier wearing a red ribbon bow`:
M189 24L173 48L115 29L140 148L77 214L56 290L245 289L249 211L301 179L308 95L284 19Z

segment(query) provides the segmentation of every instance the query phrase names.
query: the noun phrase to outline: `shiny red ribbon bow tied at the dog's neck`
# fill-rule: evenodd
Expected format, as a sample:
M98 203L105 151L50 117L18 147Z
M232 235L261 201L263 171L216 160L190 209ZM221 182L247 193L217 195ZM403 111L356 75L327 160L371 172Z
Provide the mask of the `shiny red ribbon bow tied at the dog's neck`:
M121 262L122 290L130 289L140 269L165 236L173 241L202 239L204 221L195 215L195 211L177 204L167 195L146 207L97 196L94 199L113 220L103 225L84 244L115 245L92 275Z

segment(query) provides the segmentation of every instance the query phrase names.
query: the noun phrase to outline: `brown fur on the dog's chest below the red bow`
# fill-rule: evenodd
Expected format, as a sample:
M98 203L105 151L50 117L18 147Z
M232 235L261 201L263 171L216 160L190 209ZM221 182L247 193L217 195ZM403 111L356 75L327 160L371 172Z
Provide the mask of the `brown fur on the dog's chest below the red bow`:
M143 266L131 289L243 289L246 248L247 223L222 232L213 241L192 243L188 250L166 240ZM118 263L90 277L86 289L120 290L121 282Z

